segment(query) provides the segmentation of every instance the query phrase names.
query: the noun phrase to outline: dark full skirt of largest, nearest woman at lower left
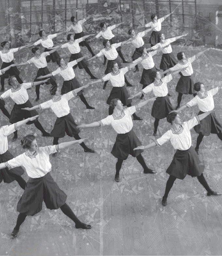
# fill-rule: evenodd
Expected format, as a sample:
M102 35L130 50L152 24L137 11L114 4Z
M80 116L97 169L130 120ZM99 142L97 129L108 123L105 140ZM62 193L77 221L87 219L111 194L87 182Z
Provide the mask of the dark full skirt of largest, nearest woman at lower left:
M50 210L58 209L66 203L67 195L52 179L50 173L41 178L29 178L20 198L17 211L25 215L35 215L42 210L42 201Z

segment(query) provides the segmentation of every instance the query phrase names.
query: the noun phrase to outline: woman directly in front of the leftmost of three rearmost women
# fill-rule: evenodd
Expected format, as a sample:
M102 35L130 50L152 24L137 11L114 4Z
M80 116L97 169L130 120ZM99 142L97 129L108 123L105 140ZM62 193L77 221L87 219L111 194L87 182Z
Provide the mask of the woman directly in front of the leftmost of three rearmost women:
M83 36L80 37L78 39L74 39L75 37L72 34L68 34L67 35L67 41L69 41L68 43L65 43L61 46L61 48L68 48L69 52L71 53L69 62L73 61L73 60L78 60L79 58L82 57L81 54L81 49L79 46L79 43L83 42L86 38L92 36L94 34L88 35L88 36ZM94 54L95 56L95 54ZM81 60L79 61L76 65L74 65L72 68L76 69L77 66L79 67L79 69L85 69L86 73L91 77L91 79L98 79L97 77L95 77L91 71L88 68L88 64L84 61Z

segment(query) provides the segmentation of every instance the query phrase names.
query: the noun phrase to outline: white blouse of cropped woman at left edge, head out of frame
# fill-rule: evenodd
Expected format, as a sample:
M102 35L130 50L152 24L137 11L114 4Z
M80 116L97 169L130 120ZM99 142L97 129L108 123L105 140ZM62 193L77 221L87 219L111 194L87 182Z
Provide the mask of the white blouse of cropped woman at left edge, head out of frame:
M17 123L13 125L6 125L0 128L0 155L4 154L8 150L8 139L7 136L17 131L19 128Z

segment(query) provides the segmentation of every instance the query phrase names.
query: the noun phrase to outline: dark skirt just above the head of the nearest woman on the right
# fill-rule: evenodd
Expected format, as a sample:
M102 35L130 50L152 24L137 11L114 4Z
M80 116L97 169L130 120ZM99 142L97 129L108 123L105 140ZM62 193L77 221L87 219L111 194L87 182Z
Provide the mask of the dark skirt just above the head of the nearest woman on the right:
M163 119L173 110L168 95L165 97L157 97L154 101L151 115L154 118Z

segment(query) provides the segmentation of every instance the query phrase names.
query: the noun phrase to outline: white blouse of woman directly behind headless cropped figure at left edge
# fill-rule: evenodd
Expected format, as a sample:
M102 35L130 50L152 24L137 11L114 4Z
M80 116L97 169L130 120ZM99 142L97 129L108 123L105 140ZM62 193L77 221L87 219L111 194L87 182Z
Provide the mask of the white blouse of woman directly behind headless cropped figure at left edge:
M28 100L27 89L34 86L34 83L19 84L17 89L9 89L0 96L0 99L11 98L16 104L24 104Z

